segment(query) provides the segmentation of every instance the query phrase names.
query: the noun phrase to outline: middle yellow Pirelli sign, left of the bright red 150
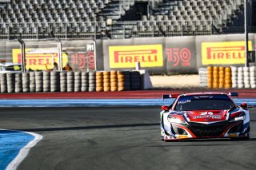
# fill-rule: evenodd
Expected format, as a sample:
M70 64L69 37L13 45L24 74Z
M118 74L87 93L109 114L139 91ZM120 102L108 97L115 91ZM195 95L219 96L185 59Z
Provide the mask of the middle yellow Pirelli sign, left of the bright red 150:
M163 65L162 45L110 46L110 68L134 68L136 62L142 67Z

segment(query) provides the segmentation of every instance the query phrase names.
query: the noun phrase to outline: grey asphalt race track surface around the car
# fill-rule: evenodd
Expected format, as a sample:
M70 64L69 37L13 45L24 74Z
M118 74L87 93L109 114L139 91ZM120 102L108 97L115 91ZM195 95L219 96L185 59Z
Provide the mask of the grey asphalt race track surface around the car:
M250 140L160 140L158 107L2 108L5 129L43 139L18 169L255 169L256 109Z

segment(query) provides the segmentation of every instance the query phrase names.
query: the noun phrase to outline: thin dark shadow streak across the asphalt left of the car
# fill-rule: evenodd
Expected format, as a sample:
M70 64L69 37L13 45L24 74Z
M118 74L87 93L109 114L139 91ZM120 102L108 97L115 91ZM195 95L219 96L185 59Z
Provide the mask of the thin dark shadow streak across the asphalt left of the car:
M84 130L84 129L97 129L97 128L130 128L130 127L148 127L156 126L156 124L130 124L130 125L98 125L98 126L80 126L80 127L63 127L63 128L25 128L25 129L14 129L18 131L28 132L49 132L49 131L64 131L64 130Z

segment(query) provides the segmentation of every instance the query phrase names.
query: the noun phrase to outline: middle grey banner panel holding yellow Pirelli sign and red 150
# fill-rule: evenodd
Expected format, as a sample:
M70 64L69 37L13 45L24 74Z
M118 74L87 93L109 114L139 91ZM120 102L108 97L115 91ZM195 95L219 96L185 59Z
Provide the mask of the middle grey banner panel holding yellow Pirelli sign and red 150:
M194 37L137 38L103 42L105 69L142 69L158 73L197 72ZM108 56L108 57L106 57Z

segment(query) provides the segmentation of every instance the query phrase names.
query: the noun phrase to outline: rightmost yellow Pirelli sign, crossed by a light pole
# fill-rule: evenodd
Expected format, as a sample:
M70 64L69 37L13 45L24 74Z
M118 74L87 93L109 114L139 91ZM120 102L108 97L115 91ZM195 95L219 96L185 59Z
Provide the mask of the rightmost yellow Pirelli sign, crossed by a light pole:
M249 50L252 42L248 42ZM203 42L202 65L244 64L245 42Z

